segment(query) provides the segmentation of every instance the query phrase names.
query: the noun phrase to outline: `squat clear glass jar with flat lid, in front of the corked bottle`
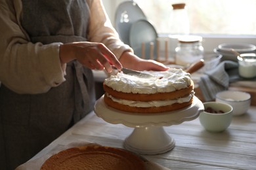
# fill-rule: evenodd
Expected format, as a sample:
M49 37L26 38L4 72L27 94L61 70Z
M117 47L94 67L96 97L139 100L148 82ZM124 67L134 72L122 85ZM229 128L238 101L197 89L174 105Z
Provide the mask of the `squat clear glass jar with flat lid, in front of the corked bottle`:
M195 35L179 37L175 52L175 63L177 65L185 66L200 61L200 59L203 59L202 37Z

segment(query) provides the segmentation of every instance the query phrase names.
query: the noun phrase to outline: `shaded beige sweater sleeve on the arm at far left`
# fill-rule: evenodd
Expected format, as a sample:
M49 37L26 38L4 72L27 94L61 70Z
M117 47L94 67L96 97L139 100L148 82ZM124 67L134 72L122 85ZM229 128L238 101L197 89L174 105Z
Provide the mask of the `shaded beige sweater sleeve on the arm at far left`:
M22 29L21 0L0 2L0 82L16 93L45 93L64 82L61 43L33 44Z

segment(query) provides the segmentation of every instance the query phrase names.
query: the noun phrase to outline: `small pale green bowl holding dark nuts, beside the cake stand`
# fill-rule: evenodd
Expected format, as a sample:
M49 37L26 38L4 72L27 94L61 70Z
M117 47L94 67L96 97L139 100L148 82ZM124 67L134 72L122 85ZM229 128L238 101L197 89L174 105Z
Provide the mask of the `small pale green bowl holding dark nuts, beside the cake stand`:
M226 103L210 101L203 103L205 110L200 113L200 124L211 132L224 131L232 121L232 106Z

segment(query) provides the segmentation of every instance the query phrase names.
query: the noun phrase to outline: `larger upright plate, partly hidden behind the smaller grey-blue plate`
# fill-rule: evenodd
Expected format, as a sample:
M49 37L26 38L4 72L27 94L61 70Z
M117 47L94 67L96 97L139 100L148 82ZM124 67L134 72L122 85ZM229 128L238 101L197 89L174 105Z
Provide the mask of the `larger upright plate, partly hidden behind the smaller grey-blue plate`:
M116 10L115 27L121 41L129 45L129 31L133 22L144 19L146 16L137 3L125 1Z

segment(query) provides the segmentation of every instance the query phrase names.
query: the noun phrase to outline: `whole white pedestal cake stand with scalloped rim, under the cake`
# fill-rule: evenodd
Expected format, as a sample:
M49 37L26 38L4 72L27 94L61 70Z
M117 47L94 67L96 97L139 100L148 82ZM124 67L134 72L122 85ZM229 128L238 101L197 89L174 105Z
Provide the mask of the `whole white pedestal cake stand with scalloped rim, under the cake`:
M203 103L194 96L190 107L156 114L131 114L108 107L100 97L95 104L95 113L111 124L123 124L135 127L131 135L125 139L127 150L139 154L162 154L174 148L175 140L163 129L163 126L181 124L196 119L203 111Z

